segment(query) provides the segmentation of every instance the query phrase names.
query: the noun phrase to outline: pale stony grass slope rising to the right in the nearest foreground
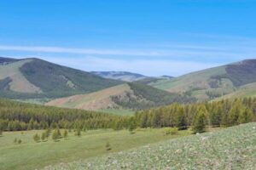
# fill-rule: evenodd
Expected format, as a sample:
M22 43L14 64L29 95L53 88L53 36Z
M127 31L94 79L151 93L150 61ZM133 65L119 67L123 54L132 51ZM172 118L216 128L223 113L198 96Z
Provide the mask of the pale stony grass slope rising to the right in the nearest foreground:
M247 169L256 167L256 123L229 127L45 169Z

